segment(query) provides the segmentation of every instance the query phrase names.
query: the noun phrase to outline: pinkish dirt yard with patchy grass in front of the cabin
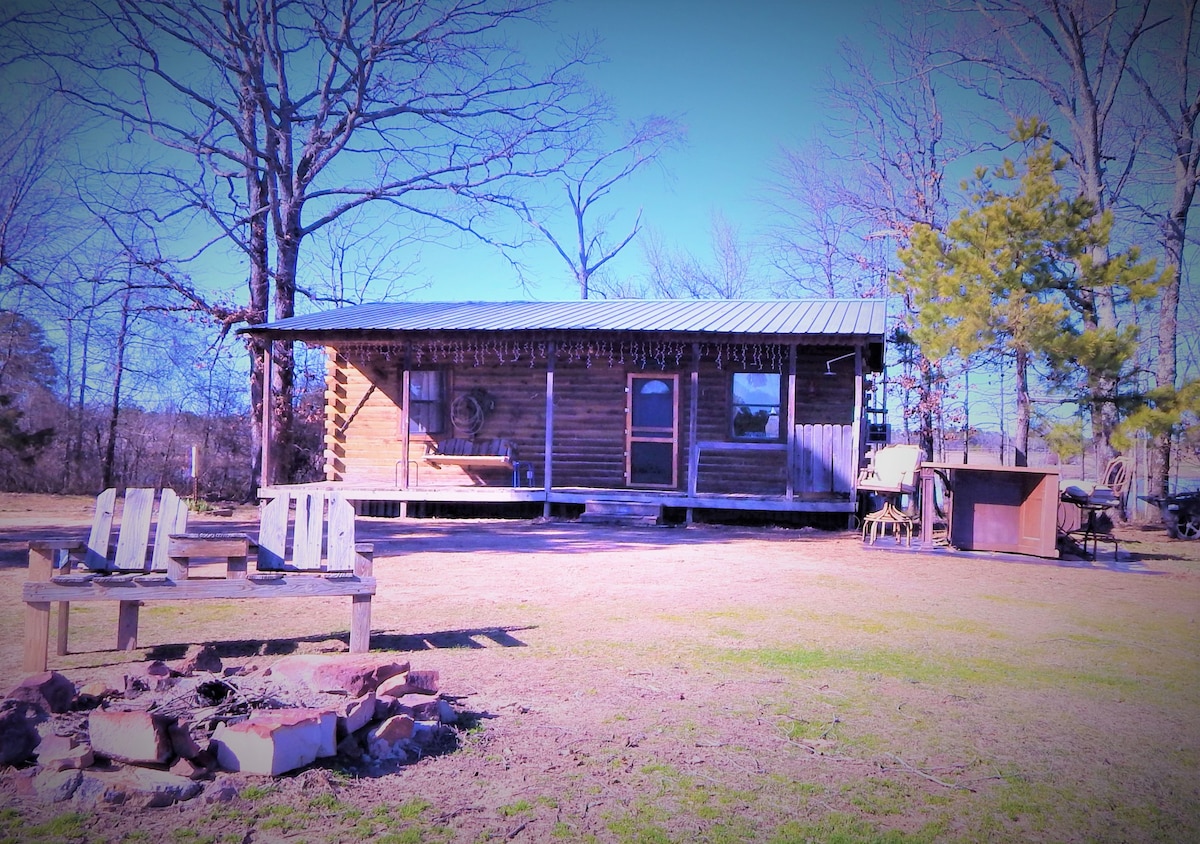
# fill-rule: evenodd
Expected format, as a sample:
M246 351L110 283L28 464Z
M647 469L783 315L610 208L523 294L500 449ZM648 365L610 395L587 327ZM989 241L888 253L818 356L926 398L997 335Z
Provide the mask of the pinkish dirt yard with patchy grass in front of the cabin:
M89 520L90 501L0 495L0 690L20 678L29 539ZM0 840L1200 840L1200 541L1120 537L1084 562L360 519L372 647L440 672L468 713L455 749L137 814L64 818L0 782ZM340 651L349 601L148 604L131 653L115 619L73 607L52 668L112 681L192 642L227 664Z

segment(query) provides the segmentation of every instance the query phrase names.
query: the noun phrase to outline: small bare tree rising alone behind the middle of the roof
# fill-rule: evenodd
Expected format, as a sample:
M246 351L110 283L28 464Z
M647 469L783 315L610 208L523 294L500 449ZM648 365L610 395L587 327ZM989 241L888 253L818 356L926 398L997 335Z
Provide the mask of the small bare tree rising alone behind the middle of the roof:
M646 166L659 163L662 154L679 146L683 139L684 130L679 122L655 115L630 125L624 140L612 149L583 150L556 178L571 209L569 238L556 235L551 231L551 225L545 221L545 211L524 203L518 206L522 219L538 229L570 268L580 287L580 299L587 299L592 292L592 276L629 246L642 229L641 209L628 231L622 229L625 233L616 235L610 232L616 222L616 211L593 216L590 221L588 214L596 203L607 199L618 185Z

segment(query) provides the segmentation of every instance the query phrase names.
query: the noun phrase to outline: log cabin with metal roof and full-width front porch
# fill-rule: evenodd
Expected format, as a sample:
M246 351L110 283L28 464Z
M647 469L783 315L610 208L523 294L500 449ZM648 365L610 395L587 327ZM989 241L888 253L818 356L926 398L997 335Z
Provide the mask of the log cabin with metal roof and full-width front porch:
M613 299L377 303L244 333L325 349L317 486L360 514L534 503L691 521L852 517L887 437L884 330L881 299ZM264 457L264 497L269 478Z

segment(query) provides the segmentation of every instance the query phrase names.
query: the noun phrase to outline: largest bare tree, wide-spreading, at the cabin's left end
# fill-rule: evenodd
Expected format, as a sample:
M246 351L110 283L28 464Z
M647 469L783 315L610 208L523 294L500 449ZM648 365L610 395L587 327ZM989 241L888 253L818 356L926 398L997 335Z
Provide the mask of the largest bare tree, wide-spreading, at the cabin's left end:
M570 157L596 108L572 72L580 55L535 73L502 40L542 5L61 0L7 30L56 92L161 146L131 168L175 199L156 219L170 231L204 215L212 243L245 253L248 298L214 306L170 252L143 264L226 324L260 324L293 316L302 244L348 211L379 204L485 237L482 205ZM264 343L250 346L257 426ZM286 432L290 347L274 354L274 430ZM286 442L272 450L286 473Z

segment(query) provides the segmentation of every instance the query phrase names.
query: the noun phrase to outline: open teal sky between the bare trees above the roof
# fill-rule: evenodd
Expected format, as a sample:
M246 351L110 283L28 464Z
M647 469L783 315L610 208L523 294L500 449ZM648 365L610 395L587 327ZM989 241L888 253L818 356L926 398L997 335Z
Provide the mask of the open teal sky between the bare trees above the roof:
M707 257L710 220L720 213L745 237L762 228L757 197L781 145L810 139L822 120L820 88L838 46L870 37L884 4L851 0L564 0L551 10L532 52L563 36L594 34L607 61L589 77L612 98L622 119L677 116L688 145L664 157L665 173L648 169L600 209L617 213L628 231L638 209L643 223L673 246ZM599 206L598 206L599 208ZM560 225L570 225L569 219ZM413 276L422 299L574 299L565 263L548 244L521 256L530 289L487 250L422 250ZM618 277L641 274L631 244L611 264Z

